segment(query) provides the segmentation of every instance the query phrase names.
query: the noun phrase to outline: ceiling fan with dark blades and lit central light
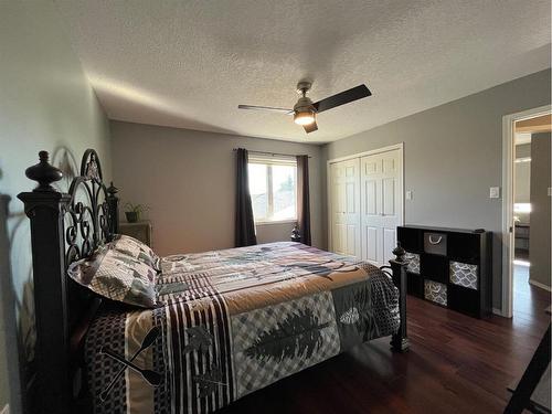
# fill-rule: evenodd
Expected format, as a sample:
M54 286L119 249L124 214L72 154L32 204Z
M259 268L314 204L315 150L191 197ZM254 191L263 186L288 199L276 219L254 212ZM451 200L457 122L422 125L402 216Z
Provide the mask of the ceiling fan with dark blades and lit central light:
M307 96L307 93L310 91L311 86L312 83L308 81L301 81L297 84L297 93L301 95L301 97L299 98L299 100L297 100L297 104L295 104L293 109L256 105L237 105L237 108L270 110L275 113L293 115L294 121L298 125L301 125L305 128L305 131L309 134L318 129L318 126L316 124L317 114L372 95L367 85L362 84L348 91L340 92L339 94L329 96L326 99L312 103L312 100L310 100L310 98Z

